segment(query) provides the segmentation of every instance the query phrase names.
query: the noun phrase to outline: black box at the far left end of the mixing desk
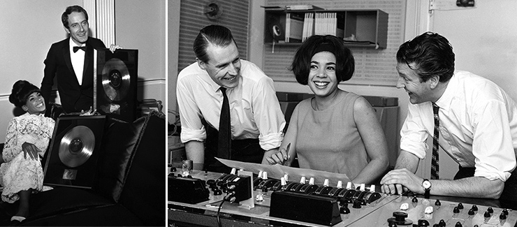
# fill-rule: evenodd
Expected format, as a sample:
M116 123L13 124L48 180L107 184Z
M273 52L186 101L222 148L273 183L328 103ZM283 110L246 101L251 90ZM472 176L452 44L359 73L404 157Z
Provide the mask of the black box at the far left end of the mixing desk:
M201 203L208 200L210 191L203 180L191 177L168 176L168 200L181 203Z

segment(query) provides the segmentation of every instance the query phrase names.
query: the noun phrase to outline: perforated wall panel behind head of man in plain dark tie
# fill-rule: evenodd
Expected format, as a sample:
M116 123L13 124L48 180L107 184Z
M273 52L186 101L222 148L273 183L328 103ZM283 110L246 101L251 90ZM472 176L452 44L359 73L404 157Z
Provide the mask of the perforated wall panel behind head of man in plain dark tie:
M203 14L203 6L217 2L223 13L217 20L209 20ZM178 71L196 61L196 55L192 50L194 39L200 29L210 24L219 24L228 27L232 31L233 38L239 47L241 59L247 59L248 41L248 17L249 1L200 1L182 0L180 13L180 46ZM169 31L175 32L175 31Z

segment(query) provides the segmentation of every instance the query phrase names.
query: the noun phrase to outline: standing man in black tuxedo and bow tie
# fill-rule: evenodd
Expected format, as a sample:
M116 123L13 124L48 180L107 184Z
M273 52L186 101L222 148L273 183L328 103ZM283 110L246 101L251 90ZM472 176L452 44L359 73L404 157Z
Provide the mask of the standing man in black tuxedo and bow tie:
M68 6L61 15L65 31L70 36L52 44L45 59L41 94L47 106L57 76L57 90L66 113L92 112L94 97L94 48L105 48L103 41L88 37L88 13L80 6ZM119 49L111 45L111 52ZM50 115L47 108L45 116Z

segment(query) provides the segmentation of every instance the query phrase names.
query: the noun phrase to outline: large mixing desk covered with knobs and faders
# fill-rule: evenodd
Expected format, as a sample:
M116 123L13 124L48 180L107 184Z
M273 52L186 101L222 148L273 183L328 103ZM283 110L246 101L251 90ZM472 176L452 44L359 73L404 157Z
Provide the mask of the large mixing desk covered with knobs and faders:
M196 215L221 219L242 219L246 225L272 226L516 226L517 212L502 207L473 203L458 203L445 199L424 199L416 196L392 196L380 193L375 186L312 184L311 180L289 182L284 179L254 177L252 198L254 207L242 207L228 200L221 203L235 189L237 174L195 171L189 178L198 179L205 186L207 198L203 202L185 203L171 200L171 182L181 180L178 173L169 175L169 221L182 220L184 212L196 208ZM171 181L171 177L175 181ZM283 177L282 177L283 178ZM247 184L245 184L247 185ZM175 189L178 190L178 189ZM242 190L241 190L242 191ZM242 192L240 193L242 195ZM272 200L273 199L273 200ZM468 200L465 200L468 201ZM233 202L233 203L232 203ZM222 205L219 210L219 205ZM201 212L199 212L201 210ZM219 210L219 212L217 212ZM323 210L329 212L319 214ZM218 214L219 213L219 214ZM325 214L335 213L328 219ZM316 215L314 219L310 217ZM193 214L194 215L194 214ZM243 219L243 217L245 217ZM317 219L317 220L316 220ZM219 219L218 219L219 220ZM195 221L195 220L192 220ZM184 221L190 222L190 221ZM212 226L214 223L195 223ZM181 226L180 222L175 223ZM235 225L235 224L232 224ZM224 224L222 225L224 226Z

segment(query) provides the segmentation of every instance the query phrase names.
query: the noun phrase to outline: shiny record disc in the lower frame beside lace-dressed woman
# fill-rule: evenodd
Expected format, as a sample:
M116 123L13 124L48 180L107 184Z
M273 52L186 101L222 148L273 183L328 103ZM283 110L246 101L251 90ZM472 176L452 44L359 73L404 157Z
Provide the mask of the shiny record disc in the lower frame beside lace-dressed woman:
M61 139L59 159L70 168L81 166L92 156L94 147L94 132L87 126L75 126Z

